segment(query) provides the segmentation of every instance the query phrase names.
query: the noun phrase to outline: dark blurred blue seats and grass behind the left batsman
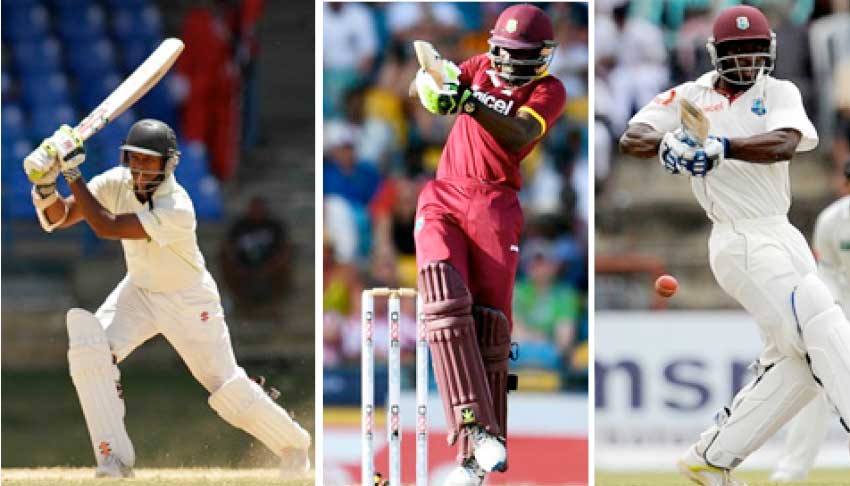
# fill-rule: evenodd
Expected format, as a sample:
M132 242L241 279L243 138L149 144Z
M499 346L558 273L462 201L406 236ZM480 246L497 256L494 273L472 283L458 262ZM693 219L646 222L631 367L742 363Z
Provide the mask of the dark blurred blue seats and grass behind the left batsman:
M64 315L94 311L125 273L121 246L84 223L41 230L21 161L171 36L186 43L177 64L87 142L83 172L117 165L138 119L176 130L177 179L192 197L237 359L312 430L313 18L309 3L263 0L2 1L2 433L16 444L3 448L3 466L93 464ZM68 194L64 181L60 191ZM161 337L121 369L139 466L275 464L207 406Z

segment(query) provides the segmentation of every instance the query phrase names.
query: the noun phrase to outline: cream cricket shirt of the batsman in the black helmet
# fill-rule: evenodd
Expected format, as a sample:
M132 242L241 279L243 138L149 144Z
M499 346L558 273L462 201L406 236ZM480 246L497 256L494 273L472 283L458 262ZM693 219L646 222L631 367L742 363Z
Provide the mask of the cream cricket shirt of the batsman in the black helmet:
M121 240L130 281L151 292L197 285L206 266L195 236L195 208L174 175L163 181L151 201L133 194L129 169L115 167L92 178L89 190L113 214L135 213L147 240Z

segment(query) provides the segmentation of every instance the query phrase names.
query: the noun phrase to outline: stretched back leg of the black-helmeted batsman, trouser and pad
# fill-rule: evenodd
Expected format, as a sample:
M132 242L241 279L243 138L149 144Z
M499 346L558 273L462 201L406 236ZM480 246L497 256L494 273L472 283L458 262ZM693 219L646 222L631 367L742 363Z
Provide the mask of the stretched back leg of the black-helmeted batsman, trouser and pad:
M237 365L212 277L158 296L155 306L160 331L210 393L210 407L281 459L289 460L297 451L301 472L306 471L310 435Z

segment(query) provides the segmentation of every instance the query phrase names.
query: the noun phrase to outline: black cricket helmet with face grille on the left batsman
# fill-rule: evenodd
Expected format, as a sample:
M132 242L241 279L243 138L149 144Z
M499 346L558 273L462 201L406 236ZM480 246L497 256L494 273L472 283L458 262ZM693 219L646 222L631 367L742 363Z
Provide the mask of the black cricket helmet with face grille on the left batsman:
M162 157L162 166L156 171L136 171L141 175L155 174L158 177L145 188L135 189L137 192L153 193L159 185L174 173L174 168L180 162L180 151L177 150L177 135L167 124L153 119L139 120L130 127L127 138L121 144L121 165L129 167L130 152ZM132 175L131 175L132 177Z

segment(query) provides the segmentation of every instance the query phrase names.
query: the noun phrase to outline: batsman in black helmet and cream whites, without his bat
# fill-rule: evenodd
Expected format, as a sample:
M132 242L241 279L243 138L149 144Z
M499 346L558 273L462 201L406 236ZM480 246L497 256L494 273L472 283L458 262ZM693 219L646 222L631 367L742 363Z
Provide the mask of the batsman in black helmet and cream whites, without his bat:
M24 161L35 182L32 201L52 232L85 220L98 237L121 240L127 276L95 314L67 315L68 364L97 459L96 476L132 477L136 460L124 427L117 364L163 334L210 393L226 422L253 435L288 470L309 467L309 434L236 364L218 289L195 235L195 210L174 168L174 131L158 120L136 122L121 146L121 166L83 180L85 148L63 125ZM72 195L56 192L59 174ZM296 464L296 465L293 465ZM287 472L287 471L285 471Z

